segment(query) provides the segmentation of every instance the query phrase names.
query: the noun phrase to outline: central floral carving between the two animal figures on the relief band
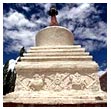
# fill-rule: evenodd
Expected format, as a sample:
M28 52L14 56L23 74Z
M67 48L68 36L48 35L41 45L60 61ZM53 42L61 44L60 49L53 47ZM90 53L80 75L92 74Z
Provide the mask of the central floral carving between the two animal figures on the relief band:
M45 83L46 85L44 86L44 89L46 90L55 90L55 91L60 91L62 89L68 89L69 81L68 81L68 76L70 74L64 73L56 73L56 74L51 74L45 78Z

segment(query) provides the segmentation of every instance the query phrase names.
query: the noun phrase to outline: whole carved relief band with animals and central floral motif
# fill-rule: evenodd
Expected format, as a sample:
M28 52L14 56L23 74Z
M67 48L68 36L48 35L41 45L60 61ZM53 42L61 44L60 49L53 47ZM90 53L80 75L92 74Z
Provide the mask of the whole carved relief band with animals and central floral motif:
M21 77L21 76L20 76ZM19 78L20 78L19 77ZM23 78L19 81L25 90L85 90L98 91L96 74L81 75L76 73L55 73L50 75L35 74L32 78Z

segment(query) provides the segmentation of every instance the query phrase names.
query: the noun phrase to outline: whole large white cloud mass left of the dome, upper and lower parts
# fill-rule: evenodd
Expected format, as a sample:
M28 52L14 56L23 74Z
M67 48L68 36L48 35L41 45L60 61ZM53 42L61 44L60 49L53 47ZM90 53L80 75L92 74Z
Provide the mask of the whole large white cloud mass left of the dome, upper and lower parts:
M34 36L36 31L32 31L32 28L36 27L36 24L29 21L25 16L17 11L10 11L7 15L4 15L4 42L9 39L12 41L6 48L7 52L19 51L22 46L26 48L34 45ZM27 29L29 27L30 29Z

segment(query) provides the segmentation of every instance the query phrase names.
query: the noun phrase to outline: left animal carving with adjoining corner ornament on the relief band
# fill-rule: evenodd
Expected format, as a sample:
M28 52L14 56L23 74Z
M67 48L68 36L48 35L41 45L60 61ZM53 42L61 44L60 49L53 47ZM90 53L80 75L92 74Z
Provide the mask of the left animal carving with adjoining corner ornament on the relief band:
M24 78L19 75L16 83L15 90L38 91L44 85L44 75L35 74L32 78Z

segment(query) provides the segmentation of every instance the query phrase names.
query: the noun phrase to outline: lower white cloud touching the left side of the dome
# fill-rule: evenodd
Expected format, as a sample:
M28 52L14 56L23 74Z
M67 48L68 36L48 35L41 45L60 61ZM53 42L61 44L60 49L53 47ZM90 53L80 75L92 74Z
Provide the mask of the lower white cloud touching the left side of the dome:
M25 29L21 31L6 31L4 35L7 36L7 40L11 39L12 43L10 43L5 50L7 52L19 51L22 46L26 48L34 46L35 34L36 32L31 32Z

